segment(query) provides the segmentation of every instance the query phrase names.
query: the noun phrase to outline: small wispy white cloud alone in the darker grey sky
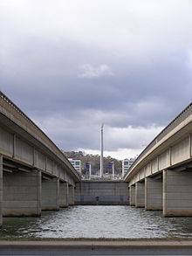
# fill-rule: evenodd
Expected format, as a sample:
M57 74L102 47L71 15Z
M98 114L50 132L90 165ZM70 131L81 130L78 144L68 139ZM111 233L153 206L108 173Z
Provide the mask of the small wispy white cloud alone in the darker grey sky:
M99 66L92 66L91 64L84 64L79 66L80 78L99 78L105 75L113 75L111 68L106 64Z

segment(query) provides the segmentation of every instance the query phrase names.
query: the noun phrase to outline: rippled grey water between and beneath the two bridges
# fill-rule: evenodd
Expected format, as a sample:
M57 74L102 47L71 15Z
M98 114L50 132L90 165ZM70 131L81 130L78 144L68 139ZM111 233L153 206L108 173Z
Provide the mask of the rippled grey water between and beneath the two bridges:
M130 206L73 206L41 218L3 218L2 238L192 238L192 218Z

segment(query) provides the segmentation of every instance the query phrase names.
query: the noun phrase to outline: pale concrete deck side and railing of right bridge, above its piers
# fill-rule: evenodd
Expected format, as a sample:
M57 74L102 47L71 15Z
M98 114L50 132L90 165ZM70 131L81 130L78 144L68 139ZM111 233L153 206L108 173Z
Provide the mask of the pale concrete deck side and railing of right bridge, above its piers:
M137 157L129 172L124 176L127 182L141 180L179 161L191 158L192 103L178 114L146 149ZM183 133L182 133L183 130ZM172 138L172 139L171 139ZM182 150L184 149L184 151ZM182 156L184 152L185 156ZM187 152L187 153L186 153Z

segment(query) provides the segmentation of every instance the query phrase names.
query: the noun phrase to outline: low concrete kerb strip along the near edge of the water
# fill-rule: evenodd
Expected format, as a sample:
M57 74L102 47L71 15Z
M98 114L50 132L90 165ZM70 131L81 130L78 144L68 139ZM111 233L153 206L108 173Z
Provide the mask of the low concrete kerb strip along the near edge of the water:
M192 249L192 239L1 239L3 247L61 247L61 248L130 248L130 247L173 247Z

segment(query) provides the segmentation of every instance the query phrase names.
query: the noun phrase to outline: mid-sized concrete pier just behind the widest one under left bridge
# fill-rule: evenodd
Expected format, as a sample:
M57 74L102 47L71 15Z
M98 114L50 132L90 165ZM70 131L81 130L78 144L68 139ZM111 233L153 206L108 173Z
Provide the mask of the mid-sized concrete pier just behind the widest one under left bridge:
M42 210L59 210L59 179L42 179Z

